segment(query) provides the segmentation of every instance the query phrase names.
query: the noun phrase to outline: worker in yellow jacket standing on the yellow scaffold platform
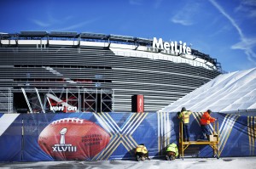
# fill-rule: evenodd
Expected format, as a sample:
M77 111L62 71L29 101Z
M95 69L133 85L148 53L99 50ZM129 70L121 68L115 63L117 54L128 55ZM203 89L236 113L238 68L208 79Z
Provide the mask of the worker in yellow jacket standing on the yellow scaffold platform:
M191 111L187 111L185 107L182 108L178 118L183 122L183 140L189 142L189 116Z

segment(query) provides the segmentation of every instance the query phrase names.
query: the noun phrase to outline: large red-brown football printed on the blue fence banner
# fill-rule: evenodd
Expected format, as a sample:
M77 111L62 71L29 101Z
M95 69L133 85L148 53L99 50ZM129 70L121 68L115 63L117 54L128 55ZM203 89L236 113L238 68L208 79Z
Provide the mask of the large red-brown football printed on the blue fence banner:
M45 127L38 144L56 160L84 161L100 153L109 139L108 132L92 121L64 118Z

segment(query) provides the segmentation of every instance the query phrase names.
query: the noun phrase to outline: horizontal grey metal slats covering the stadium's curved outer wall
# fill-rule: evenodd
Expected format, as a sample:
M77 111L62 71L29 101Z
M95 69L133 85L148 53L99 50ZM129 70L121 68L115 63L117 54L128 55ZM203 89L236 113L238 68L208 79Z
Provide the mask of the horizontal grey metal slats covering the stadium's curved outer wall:
M0 59L0 65L13 66L1 71L0 87L96 88L99 82L100 88L114 90L116 111L131 110L132 94L144 95L145 111L160 110L219 74L168 60L114 55L99 47L0 48ZM92 82L70 83L76 79Z

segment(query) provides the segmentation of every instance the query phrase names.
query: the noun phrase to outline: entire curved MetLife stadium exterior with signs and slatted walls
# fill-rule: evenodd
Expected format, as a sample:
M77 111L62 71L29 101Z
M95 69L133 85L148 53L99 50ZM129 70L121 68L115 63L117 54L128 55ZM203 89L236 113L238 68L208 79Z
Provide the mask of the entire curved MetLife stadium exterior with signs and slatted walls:
M185 42L60 31L0 34L0 112L129 112L164 108L221 74Z

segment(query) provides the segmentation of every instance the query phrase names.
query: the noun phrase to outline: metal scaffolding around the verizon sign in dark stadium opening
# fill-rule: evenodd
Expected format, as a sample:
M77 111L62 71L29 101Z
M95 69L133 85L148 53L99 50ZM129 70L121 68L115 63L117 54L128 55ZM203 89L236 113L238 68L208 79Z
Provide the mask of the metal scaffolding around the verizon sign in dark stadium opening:
M113 91L89 88L21 88L30 113L112 112Z

